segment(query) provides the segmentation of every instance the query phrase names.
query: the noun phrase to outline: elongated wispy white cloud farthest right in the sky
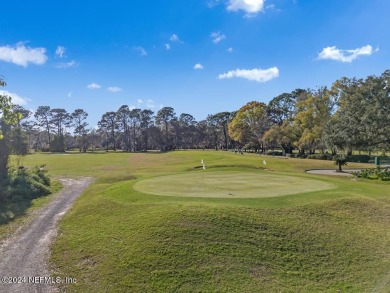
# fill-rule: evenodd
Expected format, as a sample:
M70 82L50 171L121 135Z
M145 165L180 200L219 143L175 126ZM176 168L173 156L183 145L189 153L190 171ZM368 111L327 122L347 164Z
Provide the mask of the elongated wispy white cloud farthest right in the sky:
M324 48L322 52L318 54L318 59L330 59L350 63L359 56L370 56L372 53L377 52L378 50L379 49L373 50L370 45L352 50L340 50L337 49L336 46L332 46Z

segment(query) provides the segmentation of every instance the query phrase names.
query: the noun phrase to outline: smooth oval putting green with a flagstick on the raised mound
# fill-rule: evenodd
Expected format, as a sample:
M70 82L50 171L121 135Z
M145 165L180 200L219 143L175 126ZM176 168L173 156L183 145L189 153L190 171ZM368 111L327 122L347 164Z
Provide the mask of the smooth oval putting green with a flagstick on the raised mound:
M332 189L335 185L309 178L264 172L189 172L138 181L137 191L166 196L261 198Z

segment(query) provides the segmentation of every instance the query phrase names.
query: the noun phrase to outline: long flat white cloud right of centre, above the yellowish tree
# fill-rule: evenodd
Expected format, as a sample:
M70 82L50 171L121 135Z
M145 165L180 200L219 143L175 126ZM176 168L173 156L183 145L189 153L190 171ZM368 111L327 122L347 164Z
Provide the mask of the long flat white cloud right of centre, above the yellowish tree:
M267 82L279 76L279 69L272 67L269 69L236 69L220 74L219 79L230 79L233 77L245 78L250 81Z

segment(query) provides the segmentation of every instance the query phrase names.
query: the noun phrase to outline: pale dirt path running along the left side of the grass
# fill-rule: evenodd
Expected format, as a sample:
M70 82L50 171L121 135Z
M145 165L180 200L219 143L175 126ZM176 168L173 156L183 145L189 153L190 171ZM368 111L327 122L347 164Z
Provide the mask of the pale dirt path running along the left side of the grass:
M0 247L0 292L54 292L53 284L65 282L50 277L49 246L57 235L58 220L92 179L61 182L64 188L58 196Z

